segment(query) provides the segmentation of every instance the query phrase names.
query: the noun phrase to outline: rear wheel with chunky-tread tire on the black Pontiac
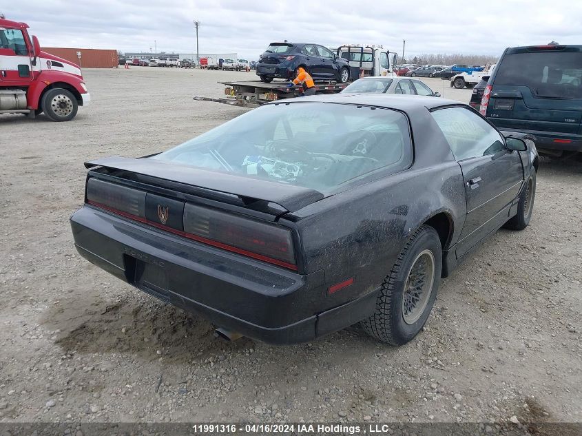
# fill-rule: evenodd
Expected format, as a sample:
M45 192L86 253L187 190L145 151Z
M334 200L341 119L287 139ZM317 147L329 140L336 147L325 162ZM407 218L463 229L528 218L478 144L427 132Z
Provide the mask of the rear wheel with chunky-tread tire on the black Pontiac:
M427 260L432 262L432 282L426 284L427 288L422 297L424 301L417 301L418 304L422 304L416 312L418 318L405 320L405 296L410 300L410 292L406 292L405 289L406 284L410 273L413 272L411 269L422 262L421 259L426 264ZM433 309L441 280L441 269L442 247L439 234L433 227L422 225L406 242L392 270L384 279L374 314L361 322L364 331L373 338L391 345L402 345L412 340L422 330ZM430 274L426 272L426 276ZM427 280L430 279L427 277ZM409 285L408 290L410 289L414 288Z

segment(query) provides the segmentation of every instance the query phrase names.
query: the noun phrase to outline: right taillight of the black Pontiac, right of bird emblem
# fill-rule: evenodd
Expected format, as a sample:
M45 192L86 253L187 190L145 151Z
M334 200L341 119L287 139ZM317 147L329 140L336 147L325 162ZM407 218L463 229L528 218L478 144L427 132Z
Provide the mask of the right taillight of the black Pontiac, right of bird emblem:
M184 207L187 238L296 270L291 231L209 207Z

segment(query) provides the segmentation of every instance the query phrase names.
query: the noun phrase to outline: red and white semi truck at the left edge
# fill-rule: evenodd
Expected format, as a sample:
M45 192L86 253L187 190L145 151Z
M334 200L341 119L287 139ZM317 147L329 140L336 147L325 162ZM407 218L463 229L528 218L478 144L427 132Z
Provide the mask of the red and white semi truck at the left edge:
M90 100L79 65L43 52L27 24L0 14L0 114L70 121Z

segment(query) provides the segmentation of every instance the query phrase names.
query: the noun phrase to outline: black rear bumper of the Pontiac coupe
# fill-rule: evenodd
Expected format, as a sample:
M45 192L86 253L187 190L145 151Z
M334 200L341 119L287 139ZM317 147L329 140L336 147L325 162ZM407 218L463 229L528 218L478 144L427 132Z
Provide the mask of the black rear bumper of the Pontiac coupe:
M302 275L85 206L71 216L81 256L165 302L272 344L313 340L371 315L375 293L324 310L323 271ZM147 271L147 272L145 272Z

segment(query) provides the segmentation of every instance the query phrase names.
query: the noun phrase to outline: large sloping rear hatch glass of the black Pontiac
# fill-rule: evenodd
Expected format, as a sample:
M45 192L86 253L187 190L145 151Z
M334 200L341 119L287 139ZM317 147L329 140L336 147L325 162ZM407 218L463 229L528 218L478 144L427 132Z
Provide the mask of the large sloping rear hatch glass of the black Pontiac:
M411 156L400 112L291 103L258 107L152 158L326 192L379 169L400 171Z

